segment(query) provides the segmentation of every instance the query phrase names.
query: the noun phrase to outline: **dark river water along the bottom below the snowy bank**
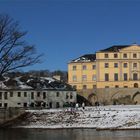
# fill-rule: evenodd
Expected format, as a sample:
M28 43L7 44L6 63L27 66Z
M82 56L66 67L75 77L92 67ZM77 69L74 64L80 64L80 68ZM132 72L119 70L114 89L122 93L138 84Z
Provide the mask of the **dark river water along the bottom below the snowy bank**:
M140 140L140 130L3 129L0 130L0 140Z

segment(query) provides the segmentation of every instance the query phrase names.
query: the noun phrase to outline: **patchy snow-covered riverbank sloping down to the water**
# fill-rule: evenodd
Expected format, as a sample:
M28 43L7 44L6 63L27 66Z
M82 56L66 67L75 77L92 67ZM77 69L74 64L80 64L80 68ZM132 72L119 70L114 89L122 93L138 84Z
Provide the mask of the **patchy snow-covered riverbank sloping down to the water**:
M27 110L24 128L140 129L140 105Z

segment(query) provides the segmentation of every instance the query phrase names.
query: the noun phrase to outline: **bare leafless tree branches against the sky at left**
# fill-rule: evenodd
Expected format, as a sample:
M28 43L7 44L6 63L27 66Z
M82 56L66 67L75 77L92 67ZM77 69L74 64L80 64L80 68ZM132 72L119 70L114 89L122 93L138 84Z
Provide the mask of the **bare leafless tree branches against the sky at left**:
M0 76L4 73L40 62L35 46L24 40L27 32L8 15L0 15Z

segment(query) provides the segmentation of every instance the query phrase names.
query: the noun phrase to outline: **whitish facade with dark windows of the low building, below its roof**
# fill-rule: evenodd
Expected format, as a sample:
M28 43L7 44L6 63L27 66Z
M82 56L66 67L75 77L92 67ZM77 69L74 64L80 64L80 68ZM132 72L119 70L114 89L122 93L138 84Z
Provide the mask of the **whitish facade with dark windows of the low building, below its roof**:
M68 90L0 90L0 108L62 108L65 104L76 103L76 91Z

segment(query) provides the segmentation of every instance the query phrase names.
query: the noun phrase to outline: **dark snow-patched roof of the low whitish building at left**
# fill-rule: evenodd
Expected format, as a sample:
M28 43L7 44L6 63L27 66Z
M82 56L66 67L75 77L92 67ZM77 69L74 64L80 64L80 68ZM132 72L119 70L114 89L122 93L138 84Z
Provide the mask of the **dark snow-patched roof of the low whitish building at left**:
M73 91L74 89L67 83L56 80L51 77L7 77L0 81L0 90L64 90Z

